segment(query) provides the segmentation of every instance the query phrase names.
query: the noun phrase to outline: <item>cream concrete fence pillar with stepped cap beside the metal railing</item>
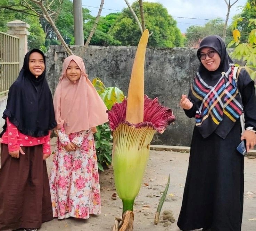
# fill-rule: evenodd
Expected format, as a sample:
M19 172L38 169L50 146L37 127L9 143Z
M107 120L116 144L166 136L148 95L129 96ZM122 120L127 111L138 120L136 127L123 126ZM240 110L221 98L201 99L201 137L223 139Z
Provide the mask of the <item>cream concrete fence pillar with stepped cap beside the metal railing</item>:
M9 30L8 34L19 37L19 70L23 66L24 56L27 53L27 36L30 34L28 28L30 25L21 20L15 20L7 23Z

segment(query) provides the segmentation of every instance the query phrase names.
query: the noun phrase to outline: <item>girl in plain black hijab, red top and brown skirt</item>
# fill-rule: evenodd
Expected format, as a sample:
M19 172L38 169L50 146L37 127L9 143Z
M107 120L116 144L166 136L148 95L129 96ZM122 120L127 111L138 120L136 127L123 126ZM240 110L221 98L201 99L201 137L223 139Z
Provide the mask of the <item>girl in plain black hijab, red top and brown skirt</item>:
M52 219L45 159L57 123L46 81L45 56L33 49L11 85L1 137L0 230L37 230Z

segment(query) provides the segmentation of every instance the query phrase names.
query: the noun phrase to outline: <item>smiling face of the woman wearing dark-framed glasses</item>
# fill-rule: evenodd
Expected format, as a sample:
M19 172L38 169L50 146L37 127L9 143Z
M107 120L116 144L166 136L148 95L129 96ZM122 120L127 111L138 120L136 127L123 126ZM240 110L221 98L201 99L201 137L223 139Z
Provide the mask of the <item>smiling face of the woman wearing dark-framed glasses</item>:
M208 71L216 71L221 63L221 57L217 51L211 47L204 47L200 50L201 63ZM211 57L212 56L212 57Z

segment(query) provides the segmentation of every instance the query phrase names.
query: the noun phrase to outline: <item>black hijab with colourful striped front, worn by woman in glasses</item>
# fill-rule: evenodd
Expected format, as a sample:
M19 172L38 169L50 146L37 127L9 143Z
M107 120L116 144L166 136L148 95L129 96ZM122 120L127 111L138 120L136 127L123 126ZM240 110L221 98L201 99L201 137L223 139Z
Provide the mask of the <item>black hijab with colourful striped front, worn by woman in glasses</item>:
M220 36L210 35L201 41L197 51L200 62L200 51L204 47L211 47L218 53L220 66L215 71L208 71L200 63L188 97L196 107L196 127L201 135L206 138L214 132L225 139L242 113L241 99L233 80L234 64ZM228 100L231 102L226 106Z

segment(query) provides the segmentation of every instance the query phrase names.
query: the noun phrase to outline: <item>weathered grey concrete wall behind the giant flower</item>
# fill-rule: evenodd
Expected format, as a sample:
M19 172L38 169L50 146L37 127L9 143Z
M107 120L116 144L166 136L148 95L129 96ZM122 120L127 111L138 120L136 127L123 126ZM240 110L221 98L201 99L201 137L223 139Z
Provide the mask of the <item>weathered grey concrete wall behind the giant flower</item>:
M80 47L71 47L79 54ZM136 47L89 46L82 56L90 80L99 77L106 87L127 90ZM51 46L47 53L47 78L54 92L67 53L61 46ZM158 97L160 103L173 109L176 121L163 134L156 134L152 144L190 146L194 119L179 107L181 94L187 94L199 61L191 48L149 47L145 62L145 94Z

